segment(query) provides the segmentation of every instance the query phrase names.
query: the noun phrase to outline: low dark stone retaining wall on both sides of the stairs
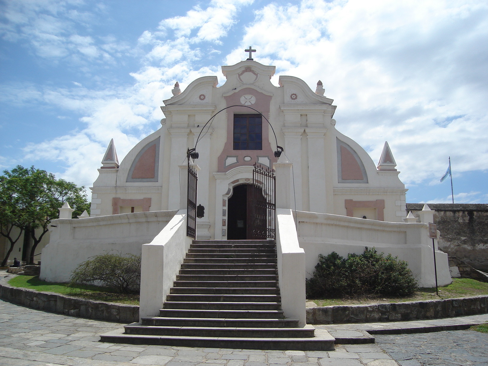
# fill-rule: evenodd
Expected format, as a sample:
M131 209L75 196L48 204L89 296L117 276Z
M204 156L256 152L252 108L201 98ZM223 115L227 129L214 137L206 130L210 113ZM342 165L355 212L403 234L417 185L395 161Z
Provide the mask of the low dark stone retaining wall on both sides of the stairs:
M139 322L139 306L78 299L0 282L0 299L59 314L117 323ZM371 323L450 318L488 313L488 295L408 303L317 306L306 309L307 324Z

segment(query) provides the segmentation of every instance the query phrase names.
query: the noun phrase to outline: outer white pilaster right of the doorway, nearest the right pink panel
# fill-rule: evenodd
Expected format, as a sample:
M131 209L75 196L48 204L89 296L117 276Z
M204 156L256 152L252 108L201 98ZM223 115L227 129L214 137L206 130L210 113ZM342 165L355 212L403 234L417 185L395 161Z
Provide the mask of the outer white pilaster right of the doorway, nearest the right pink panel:
M326 213L325 141L326 128L305 128L308 142L309 210Z

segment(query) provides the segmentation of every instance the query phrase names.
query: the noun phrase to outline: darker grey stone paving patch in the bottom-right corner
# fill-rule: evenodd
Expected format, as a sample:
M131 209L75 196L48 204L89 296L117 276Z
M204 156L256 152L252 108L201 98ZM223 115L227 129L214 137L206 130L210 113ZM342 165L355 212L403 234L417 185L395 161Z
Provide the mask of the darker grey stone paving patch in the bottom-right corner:
M425 334L376 335L376 344L401 366L488 365L488 334L454 330Z

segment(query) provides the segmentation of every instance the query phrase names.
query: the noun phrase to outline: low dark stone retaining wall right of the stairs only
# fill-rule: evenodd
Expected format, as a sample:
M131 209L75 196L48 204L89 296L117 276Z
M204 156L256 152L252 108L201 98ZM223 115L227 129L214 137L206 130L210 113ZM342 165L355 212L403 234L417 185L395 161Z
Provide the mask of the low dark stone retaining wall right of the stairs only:
M306 309L308 324L372 323L451 318L488 313L488 295L408 303L317 306Z

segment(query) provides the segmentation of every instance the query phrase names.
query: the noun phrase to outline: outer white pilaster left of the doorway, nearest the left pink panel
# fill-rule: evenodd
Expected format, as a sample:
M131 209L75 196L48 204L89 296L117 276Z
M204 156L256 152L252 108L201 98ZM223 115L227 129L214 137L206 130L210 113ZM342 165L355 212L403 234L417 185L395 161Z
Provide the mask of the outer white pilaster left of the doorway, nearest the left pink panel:
M180 209L180 164L186 163L189 128L168 128L171 135L168 210ZM186 195L186 192L185 192Z

